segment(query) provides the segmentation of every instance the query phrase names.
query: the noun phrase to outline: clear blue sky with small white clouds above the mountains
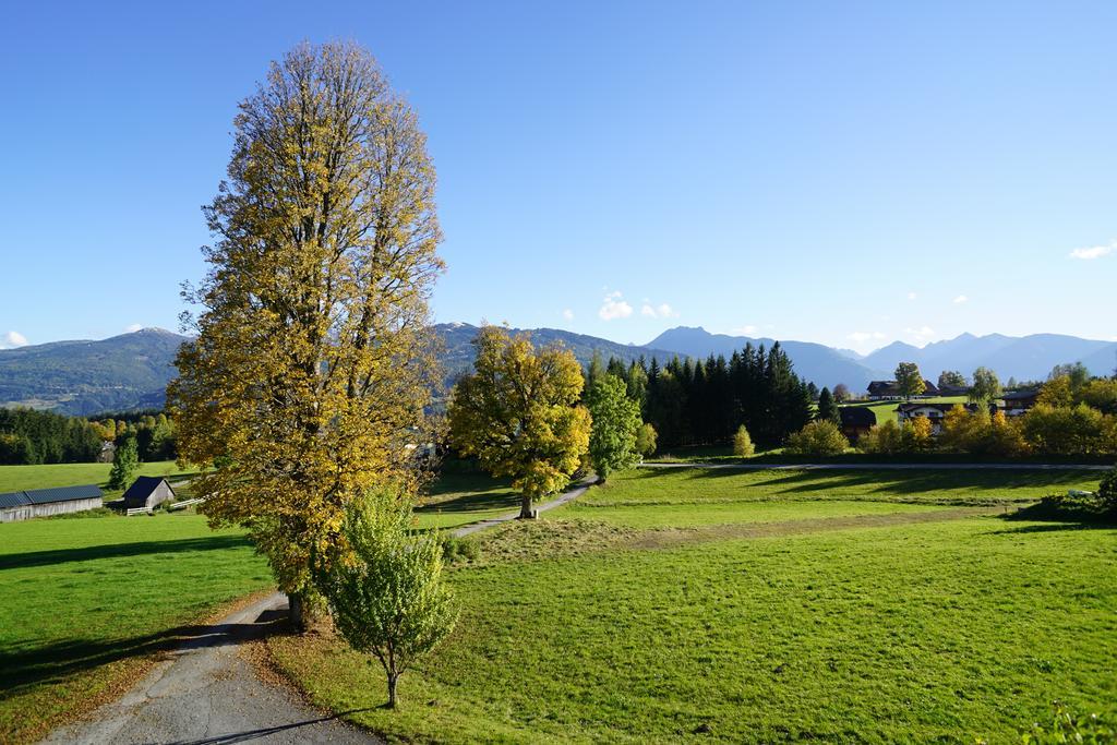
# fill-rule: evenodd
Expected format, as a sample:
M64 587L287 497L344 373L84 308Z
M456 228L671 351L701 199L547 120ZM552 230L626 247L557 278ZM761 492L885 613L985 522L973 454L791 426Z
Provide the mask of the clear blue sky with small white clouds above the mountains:
M439 321L1115 338L1115 28L1113 2L11 4L0 345L176 328L237 102L336 38L429 135Z

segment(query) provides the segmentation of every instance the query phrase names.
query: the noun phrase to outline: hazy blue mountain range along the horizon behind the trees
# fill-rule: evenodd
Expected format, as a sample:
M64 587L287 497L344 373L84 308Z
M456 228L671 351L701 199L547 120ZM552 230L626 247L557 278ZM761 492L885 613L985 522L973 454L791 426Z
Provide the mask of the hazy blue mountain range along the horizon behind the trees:
M469 370L470 345L477 326L462 323L435 326L442 342L447 380ZM519 329L513 329L518 332ZM663 362L671 356L705 359L729 356L745 344L771 346L772 338L710 334L700 327L671 328L648 344L619 344L558 328L528 329L535 344L560 342L582 364L594 352L602 357L632 362L639 357ZM144 328L101 341L51 342L0 350L0 405L28 405L60 413L89 416L163 404L163 389L174 375L174 353L185 336L161 328ZM1013 337L1002 334L961 336L918 347L895 342L860 355L812 342L781 341L795 371L820 388L846 383L865 390L871 380L891 378L899 362L915 362L935 380L943 370L970 375L978 366L995 370L1002 381L1042 380L1066 362L1082 362L1095 374L1111 374L1117 366L1117 343L1060 334Z

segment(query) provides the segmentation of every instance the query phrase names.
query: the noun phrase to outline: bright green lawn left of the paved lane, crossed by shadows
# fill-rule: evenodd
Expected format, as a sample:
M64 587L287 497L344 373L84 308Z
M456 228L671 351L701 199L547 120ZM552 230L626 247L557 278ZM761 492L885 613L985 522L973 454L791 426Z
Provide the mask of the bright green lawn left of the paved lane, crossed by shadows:
M239 532L198 515L0 525L0 742L36 739L270 585Z

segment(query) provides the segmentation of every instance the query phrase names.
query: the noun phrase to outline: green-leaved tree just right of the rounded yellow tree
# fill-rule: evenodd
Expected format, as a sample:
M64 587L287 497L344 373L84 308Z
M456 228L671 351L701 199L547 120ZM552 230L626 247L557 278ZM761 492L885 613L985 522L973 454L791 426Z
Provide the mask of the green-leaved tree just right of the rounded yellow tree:
M604 483L614 470L631 468L640 460L637 431L640 404L628 398L624 381L604 374L590 381L585 397L590 410L590 460Z

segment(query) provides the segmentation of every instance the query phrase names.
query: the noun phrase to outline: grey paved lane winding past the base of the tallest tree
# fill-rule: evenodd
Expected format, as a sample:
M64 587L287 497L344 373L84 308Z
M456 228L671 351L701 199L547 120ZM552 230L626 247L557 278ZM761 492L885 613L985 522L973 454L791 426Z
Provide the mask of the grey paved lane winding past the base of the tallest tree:
M554 509L585 494L591 481L548 503ZM452 532L469 535L519 510ZM374 735L326 716L290 691L260 680L241 655L241 642L266 636L287 615L287 598L273 593L200 632L117 701L60 727L44 743L380 743Z

